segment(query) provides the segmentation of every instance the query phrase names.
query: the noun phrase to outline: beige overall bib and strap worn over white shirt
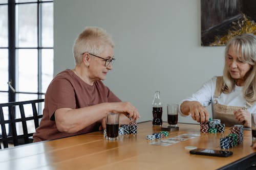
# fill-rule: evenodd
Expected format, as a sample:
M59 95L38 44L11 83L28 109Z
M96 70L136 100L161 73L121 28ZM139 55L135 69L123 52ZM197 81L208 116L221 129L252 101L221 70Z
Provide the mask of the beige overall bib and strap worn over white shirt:
M234 111L243 109L247 110L252 103L247 102L244 107L226 106L218 103L217 98L220 98L221 89L223 85L223 77L217 77L216 89L214 93L214 100L212 102L212 115L214 119L221 119L221 123L226 126L241 125L237 119L234 118Z

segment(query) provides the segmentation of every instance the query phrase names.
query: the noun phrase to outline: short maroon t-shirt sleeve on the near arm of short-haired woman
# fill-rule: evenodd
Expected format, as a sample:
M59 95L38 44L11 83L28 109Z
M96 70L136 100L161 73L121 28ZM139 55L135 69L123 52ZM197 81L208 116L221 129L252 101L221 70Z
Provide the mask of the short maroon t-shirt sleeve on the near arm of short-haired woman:
M54 120L54 112L59 108L76 108L75 92L72 84L65 78L54 80L48 90L49 118Z

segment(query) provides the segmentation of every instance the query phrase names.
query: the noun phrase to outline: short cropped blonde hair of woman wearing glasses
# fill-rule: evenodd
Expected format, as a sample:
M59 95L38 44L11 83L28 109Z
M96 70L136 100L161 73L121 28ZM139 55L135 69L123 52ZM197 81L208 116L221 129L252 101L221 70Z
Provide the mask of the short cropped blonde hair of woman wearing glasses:
M75 63L80 65L83 53L87 52L98 55L102 53L104 48L108 45L112 48L115 47L109 33L98 27L86 27L86 29L79 34L73 46Z

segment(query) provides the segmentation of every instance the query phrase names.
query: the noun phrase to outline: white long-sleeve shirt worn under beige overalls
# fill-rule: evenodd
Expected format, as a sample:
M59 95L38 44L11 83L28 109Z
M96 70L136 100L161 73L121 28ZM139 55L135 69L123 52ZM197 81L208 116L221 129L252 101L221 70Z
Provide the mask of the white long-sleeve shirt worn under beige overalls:
M214 93L216 89L217 77L211 78L209 81L204 83L201 88L199 88L192 96L186 98L180 102L184 101L198 101L204 107L207 107L211 104L211 101L214 100ZM242 95L242 86L237 86L229 94L221 93L220 98L217 98L217 101L221 105L227 106L245 106L246 100ZM253 106L248 107L247 109L250 113L256 113L256 103ZM180 112L182 116L186 116Z

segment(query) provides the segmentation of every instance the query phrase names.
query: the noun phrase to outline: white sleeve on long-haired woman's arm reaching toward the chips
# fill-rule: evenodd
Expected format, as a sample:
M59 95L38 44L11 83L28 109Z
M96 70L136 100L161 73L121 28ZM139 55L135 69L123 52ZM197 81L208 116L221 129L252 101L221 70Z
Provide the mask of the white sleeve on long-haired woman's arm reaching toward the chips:
M204 83L195 93L193 93L189 98L182 100L179 103L179 106L184 101L198 101L204 107L207 107L211 104L211 100L213 99L215 88L216 88L216 80L217 77L211 78L209 81ZM181 116L186 116L180 112Z

